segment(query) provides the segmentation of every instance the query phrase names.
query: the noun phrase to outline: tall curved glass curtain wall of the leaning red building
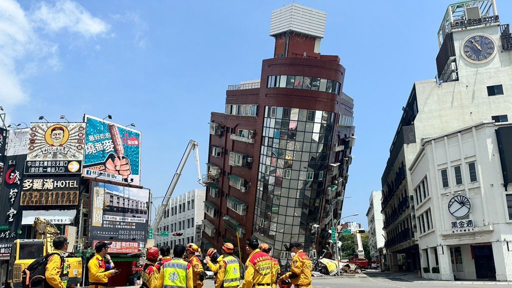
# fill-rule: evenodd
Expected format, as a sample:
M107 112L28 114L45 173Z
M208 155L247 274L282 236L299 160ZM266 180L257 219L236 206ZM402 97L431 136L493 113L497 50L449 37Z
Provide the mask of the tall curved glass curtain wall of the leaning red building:
M334 113L266 107L254 227L282 258L283 244L309 251L324 193Z

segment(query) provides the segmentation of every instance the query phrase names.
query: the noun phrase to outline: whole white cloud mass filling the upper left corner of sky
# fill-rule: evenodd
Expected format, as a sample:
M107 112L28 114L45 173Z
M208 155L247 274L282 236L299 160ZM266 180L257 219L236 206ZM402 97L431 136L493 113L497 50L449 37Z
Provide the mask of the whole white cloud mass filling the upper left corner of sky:
M14 0L0 0L0 104L13 109L29 101L25 80L40 70L58 70L59 46L42 40L35 28L46 31L67 29L86 37L100 35L110 29L82 6L71 1L58 1L50 6L38 3L26 13Z

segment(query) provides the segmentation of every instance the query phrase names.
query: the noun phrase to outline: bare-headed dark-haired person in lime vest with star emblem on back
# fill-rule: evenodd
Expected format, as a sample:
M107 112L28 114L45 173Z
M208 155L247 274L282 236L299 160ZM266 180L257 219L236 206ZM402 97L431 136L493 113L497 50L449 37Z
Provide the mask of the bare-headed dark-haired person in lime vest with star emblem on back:
M183 260L185 250L183 244L174 246L174 259L163 264L157 288L194 288L192 267Z

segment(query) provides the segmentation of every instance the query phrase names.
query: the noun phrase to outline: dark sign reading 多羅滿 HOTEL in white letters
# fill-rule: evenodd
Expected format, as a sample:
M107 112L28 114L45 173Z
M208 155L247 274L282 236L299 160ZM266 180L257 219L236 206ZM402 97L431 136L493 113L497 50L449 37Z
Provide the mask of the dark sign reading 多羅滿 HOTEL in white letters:
M80 177L31 177L23 180L20 205L77 205Z

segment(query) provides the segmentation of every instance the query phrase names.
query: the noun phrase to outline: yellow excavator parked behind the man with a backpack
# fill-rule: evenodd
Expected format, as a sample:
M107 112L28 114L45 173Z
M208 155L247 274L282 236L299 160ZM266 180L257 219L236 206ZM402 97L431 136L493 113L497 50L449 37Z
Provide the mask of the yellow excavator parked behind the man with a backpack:
M60 235L55 225L36 217L32 225L35 239L19 239L12 244L8 282L13 288L22 287L22 271L35 259L53 251L53 239ZM69 271L69 286L79 286L82 281L82 258L66 258Z

